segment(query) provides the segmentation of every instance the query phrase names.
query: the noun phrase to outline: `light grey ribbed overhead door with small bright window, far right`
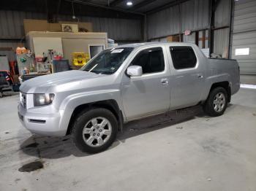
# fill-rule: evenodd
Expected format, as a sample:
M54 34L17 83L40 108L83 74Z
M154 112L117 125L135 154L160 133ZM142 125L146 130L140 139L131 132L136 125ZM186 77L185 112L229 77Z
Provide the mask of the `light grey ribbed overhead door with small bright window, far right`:
M236 49L249 47L249 55L236 55ZM256 1L236 1L233 20L232 58L238 60L241 74L256 74Z

